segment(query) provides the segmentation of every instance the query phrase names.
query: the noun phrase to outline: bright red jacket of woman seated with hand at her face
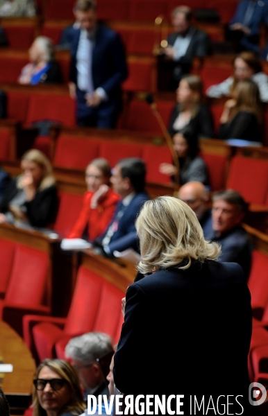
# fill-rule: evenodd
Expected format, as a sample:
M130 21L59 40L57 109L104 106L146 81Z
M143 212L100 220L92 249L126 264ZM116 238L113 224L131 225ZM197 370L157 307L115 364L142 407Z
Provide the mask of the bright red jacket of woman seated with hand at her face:
M90 207L90 200L93 194L92 191L87 191L85 193L83 207L76 223L68 235L68 239L81 238L85 227L87 226L88 239L89 241L93 241L103 234L110 223L110 220L112 220L117 202L120 199L119 195L112 191L112 189L109 189L104 198L101 198L101 202L99 202L97 208L93 209Z

